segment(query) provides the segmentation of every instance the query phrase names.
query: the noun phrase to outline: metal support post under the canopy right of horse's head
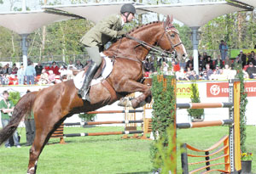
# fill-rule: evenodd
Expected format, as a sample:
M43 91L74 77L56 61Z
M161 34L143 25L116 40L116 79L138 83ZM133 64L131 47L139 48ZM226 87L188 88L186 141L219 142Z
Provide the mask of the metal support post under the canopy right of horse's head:
M197 40L198 29L199 29L199 26L191 27L193 55L194 55L194 70L197 75L199 75L199 71L198 71L198 40Z

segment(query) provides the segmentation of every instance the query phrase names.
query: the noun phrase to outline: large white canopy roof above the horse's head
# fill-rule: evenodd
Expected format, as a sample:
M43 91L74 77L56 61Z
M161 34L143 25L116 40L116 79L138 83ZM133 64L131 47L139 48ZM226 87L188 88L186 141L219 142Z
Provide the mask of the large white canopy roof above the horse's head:
M223 14L245 10L242 6L234 6L232 3L226 2L143 5L137 8L164 15L172 14L175 20L179 20L189 27L199 27Z

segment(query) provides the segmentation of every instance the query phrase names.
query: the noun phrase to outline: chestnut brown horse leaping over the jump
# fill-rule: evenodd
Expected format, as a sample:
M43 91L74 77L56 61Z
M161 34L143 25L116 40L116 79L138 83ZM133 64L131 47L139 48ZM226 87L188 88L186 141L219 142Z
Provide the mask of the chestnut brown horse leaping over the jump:
M105 55L114 57L113 70L105 80L107 85L102 82L90 87L90 101L79 98L78 89L74 86L73 80L63 81L24 95L15 105L9 125L0 131L0 144L12 136L26 115L33 112L36 135L30 149L27 173L34 174L45 144L67 117L113 104L129 93L141 92L142 94L132 98L131 101L125 101L124 105L137 108L145 100L150 102L148 99L151 96L150 87L141 83L143 60L146 59L148 52L152 49L161 53L175 51L179 59L187 55L179 33L172 25L172 20L173 18L168 16L166 21L139 26L105 50L103 52Z

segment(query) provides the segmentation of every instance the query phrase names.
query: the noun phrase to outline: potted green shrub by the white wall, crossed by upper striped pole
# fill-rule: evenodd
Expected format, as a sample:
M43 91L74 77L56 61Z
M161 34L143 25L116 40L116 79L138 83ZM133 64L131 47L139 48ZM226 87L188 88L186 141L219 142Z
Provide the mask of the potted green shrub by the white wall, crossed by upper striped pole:
M190 86L190 99L192 103L200 103L200 97L198 92L198 87L195 82L193 82ZM204 120L204 109L187 109L189 116L191 117L191 121L203 121Z

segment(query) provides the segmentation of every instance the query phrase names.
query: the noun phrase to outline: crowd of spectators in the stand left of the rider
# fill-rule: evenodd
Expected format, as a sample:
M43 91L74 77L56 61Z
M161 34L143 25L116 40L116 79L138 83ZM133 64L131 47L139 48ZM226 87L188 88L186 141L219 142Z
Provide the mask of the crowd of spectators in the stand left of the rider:
M54 61L52 65L43 67L41 63L34 65L32 61L27 62L26 69L21 64L18 68L15 64L10 67L9 64L0 67L1 85L27 85L27 84L55 84L61 81L67 81L73 78L73 70L81 70L84 65L80 60L76 64L70 61L66 66L58 67Z

